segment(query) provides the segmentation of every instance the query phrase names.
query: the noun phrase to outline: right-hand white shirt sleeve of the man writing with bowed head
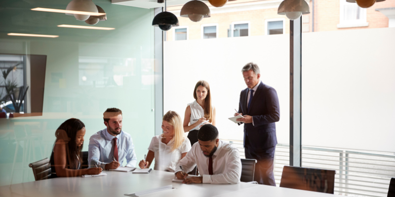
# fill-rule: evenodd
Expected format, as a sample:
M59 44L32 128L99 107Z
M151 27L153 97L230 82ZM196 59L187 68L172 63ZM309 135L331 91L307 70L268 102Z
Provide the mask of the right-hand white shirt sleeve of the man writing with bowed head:
M188 154L187 154L188 155ZM203 183L211 184L236 184L240 182L241 160L237 149L229 153L227 160L227 173L215 175L203 175Z

